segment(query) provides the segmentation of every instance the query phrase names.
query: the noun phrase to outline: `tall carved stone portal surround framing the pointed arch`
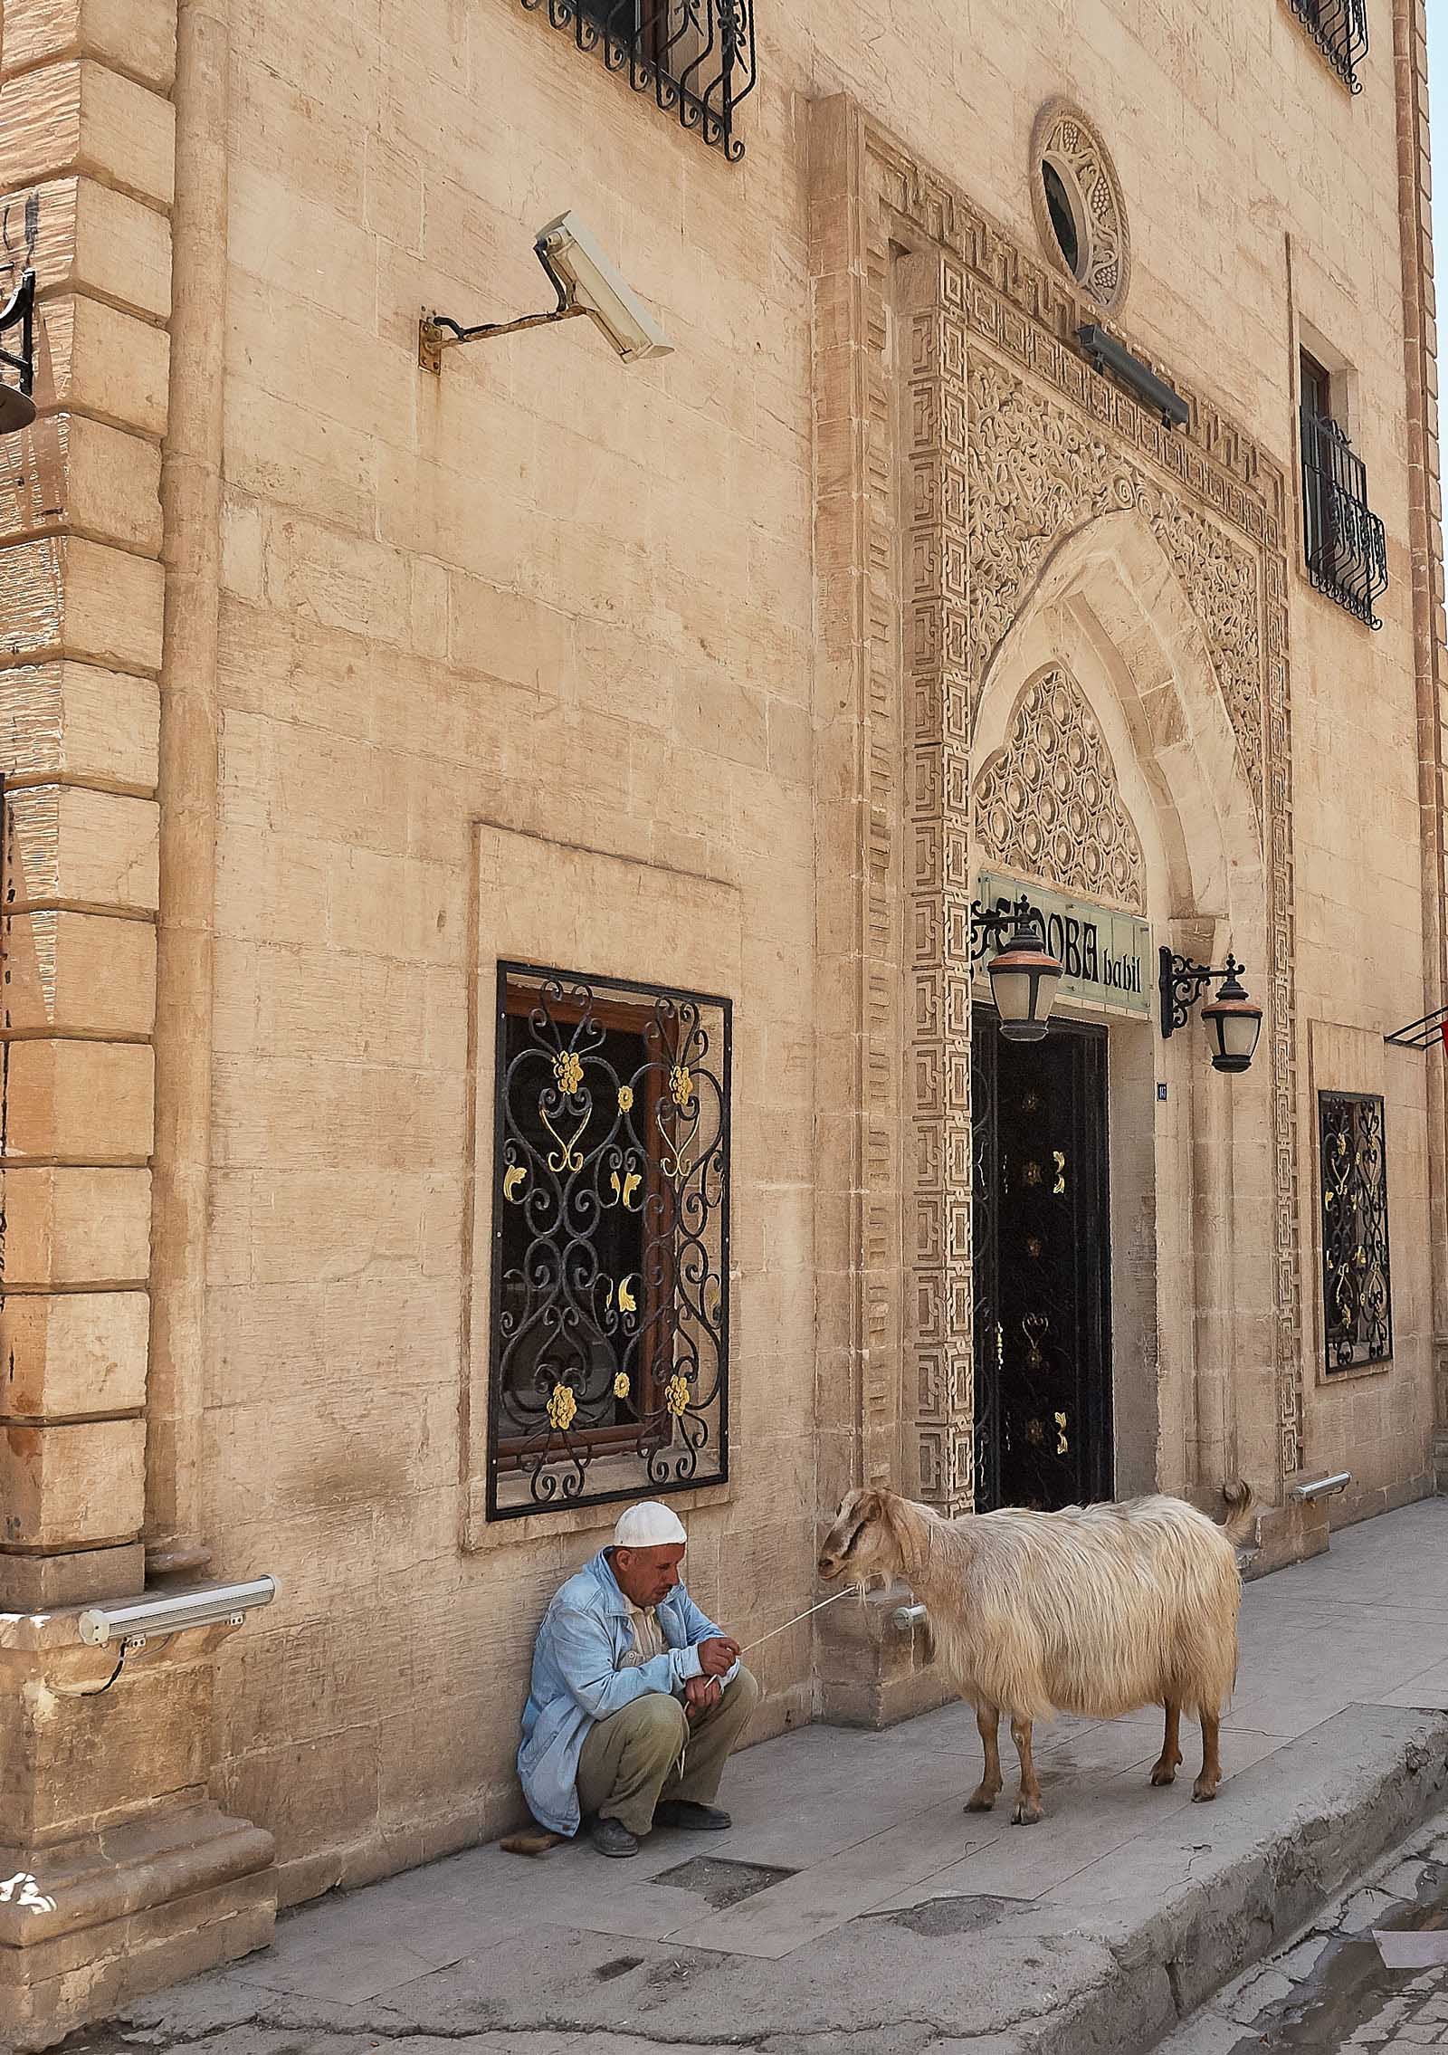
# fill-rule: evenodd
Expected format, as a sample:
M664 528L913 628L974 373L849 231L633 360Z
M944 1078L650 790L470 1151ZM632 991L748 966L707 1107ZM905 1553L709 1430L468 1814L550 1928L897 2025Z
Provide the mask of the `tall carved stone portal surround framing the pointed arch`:
M838 968L836 988L859 1001L852 1032L832 1021L817 1046L822 1104L852 1108L840 1147L822 1151L822 1284L850 1280L822 1346L822 1414L840 1422L822 1490L904 1475L943 1510L971 1502L974 715L1052 561L1113 514L1150 532L1210 651L1253 871L1269 880L1273 1375L1290 1475L1302 1385L1286 481L1197 395L1171 432L1097 376L1072 341L1084 302L846 101L815 109L813 197L820 775L838 795L820 816L820 949L822 974Z

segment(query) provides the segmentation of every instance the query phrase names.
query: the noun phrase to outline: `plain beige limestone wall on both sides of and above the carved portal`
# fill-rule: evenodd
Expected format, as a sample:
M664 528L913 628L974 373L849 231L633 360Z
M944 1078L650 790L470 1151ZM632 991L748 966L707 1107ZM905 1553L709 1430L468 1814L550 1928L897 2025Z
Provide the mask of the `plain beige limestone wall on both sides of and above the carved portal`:
M898 633L893 545L856 547L850 485L856 462L889 466L891 429L850 386L861 364L828 405L809 370L811 321L863 296L885 337L889 314L846 220L815 228L832 296L809 302L811 107L852 95L1039 253L1029 134L1070 92L1126 193L1123 335L1288 477L1294 310L1341 335L1395 588L1374 639L1292 553L1296 933L1300 1017L1366 1036L1421 991L1399 127L1382 41L1351 101L1261 0L1093 23L1066 0L916 10L908 33L865 33L844 0L762 10L737 166L513 0L306 18L236 0L230 35L199 1496L218 1564L283 1580L224 1654L218 1790L275 1829L300 1895L509 1815L532 1630L604 1531L499 1539L477 1508L470 1007L507 931L479 836L530 838L540 869L559 849L561 875L583 845L739 906L737 1475L690 1515L704 1599L746 1636L787 1617L815 1498L902 1459L914 1393L873 1291L898 1282L900 1221L869 1194L896 1175L906 1023L893 991L861 993L900 867L861 801L852 699ZM419 378L423 306L544 304L530 236L565 206L676 356L622 372L579 325ZM826 814L859 830L844 875L817 865ZM1382 847L1351 861L1368 818ZM569 968L614 951L616 914L569 908ZM641 933L641 976L647 956ZM1306 1042L1298 1064L1310 1249ZM1403 1362L1351 1397L1374 1480L1419 1475L1430 1424L1423 1075L1395 1083ZM1312 1288L1304 1258L1308 1313ZM1312 1348L1304 1319L1308 1387ZM1265 1436L1269 1365L1245 1402ZM1310 1463L1343 1412L1308 1399ZM768 1730L809 1704L809 1638L762 1660Z

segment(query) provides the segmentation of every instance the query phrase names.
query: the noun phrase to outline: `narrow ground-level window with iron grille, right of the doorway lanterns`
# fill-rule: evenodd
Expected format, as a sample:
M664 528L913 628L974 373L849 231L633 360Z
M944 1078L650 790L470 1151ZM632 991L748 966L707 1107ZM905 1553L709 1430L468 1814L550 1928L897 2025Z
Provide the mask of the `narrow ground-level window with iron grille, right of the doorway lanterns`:
M1388 1167L1382 1099L1319 1091L1323 1336L1329 1371L1393 1354Z

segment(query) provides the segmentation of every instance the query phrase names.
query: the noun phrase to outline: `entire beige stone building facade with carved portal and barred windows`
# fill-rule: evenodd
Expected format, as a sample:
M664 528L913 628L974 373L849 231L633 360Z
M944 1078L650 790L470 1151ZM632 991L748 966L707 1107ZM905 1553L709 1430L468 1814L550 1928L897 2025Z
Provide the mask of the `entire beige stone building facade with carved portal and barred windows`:
M750 1642L859 1482L1245 1475L1267 1564L1434 1488L1423 16L2 0L18 2045L516 1819L622 1492ZM672 353L421 368L565 210ZM941 1689L883 1603L752 1660Z

